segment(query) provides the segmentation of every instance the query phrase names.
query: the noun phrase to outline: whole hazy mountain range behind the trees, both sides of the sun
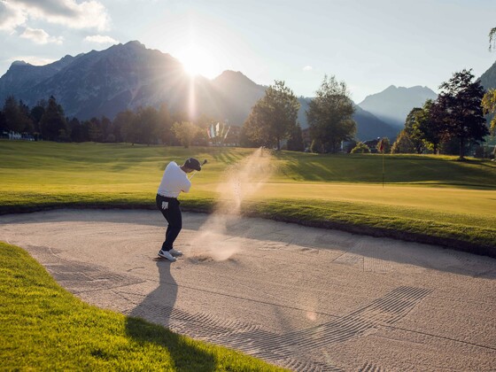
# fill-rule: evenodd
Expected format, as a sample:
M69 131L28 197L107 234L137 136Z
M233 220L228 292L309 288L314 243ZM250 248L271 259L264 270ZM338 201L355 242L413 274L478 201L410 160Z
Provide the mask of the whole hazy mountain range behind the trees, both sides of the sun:
M202 76L191 80L178 59L134 41L66 56L46 66L16 61L0 78L0 102L12 95L33 107L40 99L54 96L66 116L80 120L102 115L112 119L126 109L159 107L165 102L171 112L188 112L195 107L196 115L205 113L242 125L266 89L233 71L213 80ZM436 98L429 88L394 86L366 97L353 115L357 138L396 136L407 113L422 106L427 98ZM311 98L298 99L298 120L307 128L305 112Z

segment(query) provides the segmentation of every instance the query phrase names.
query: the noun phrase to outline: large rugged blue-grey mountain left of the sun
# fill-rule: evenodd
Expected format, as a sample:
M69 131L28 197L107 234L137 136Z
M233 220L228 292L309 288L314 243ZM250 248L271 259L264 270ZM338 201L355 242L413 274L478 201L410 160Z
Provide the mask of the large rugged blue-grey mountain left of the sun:
M177 93L183 97L188 87L182 71L181 63L172 56L129 42L66 56L47 66L14 63L0 78L0 99L13 95L33 106L54 96L67 116L113 117L139 105L167 100L176 104Z

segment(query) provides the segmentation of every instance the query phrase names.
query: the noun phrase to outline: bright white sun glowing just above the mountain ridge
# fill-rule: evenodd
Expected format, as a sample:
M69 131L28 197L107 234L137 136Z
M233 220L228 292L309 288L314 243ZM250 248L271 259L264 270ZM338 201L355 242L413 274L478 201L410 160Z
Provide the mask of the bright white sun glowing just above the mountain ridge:
M213 54L198 45L190 45L177 52L184 71L191 76L202 75L213 78L220 74L220 66Z

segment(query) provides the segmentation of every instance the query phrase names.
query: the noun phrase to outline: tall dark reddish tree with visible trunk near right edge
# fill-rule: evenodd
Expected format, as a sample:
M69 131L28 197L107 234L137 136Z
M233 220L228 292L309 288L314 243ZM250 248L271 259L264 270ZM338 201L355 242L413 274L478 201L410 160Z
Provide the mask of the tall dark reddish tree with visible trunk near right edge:
M473 81L472 70L462 70L439 86L438 106L443 112L446 139L458 138L460 159L464 159L465 146L470 142L484 141L489 134L482 109L484 88Z

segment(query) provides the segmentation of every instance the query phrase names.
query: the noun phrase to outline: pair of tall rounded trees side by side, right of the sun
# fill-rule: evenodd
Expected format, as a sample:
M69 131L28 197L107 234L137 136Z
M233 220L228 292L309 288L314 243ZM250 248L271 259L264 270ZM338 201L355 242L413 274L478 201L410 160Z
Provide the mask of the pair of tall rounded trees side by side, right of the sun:
M279 150L285 140L288 150L303 151L302 130L298 123L299 107L298 98L285 82L275 81L267 88L265 96L252 107L244 122L244 141L252 146ZM324 76L316 97L306 110L312 151L337 152L343 141L352 140L356 133L354 110L345 81L337 81L335 76Z

